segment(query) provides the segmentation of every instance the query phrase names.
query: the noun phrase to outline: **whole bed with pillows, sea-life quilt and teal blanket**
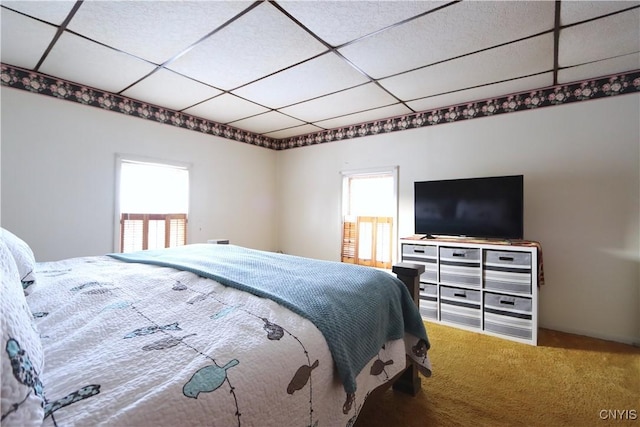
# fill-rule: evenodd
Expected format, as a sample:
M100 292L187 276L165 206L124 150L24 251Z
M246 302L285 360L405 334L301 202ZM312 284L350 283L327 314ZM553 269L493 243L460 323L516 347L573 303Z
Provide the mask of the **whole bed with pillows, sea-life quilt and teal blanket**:
M3 426L350 426L431 374L410 291L235 245L35 262L2 230Z

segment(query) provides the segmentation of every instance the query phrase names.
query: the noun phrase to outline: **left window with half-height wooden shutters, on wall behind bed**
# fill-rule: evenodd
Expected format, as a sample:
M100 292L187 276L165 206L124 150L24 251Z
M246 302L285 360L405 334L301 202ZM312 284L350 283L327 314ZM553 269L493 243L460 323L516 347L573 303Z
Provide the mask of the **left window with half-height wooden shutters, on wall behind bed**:
M189 169L119 158L118 249L131 252L187 243Z

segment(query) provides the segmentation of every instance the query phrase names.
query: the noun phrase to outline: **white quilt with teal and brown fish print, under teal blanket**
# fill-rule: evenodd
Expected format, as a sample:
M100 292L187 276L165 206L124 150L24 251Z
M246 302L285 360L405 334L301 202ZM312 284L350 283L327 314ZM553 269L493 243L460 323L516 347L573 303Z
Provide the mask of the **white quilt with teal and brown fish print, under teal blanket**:
M394 330L341 375L308 316L194 270L110 256L37 264L27 303L44 426L348 426L406 354L430 372L424 331Z

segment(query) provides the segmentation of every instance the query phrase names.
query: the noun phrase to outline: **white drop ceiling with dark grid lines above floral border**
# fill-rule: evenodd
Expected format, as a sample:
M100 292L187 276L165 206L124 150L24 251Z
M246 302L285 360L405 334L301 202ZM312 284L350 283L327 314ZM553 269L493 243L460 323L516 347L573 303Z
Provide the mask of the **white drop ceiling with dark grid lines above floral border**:
M1 1L3 64L280 140L640 69L640 1Z

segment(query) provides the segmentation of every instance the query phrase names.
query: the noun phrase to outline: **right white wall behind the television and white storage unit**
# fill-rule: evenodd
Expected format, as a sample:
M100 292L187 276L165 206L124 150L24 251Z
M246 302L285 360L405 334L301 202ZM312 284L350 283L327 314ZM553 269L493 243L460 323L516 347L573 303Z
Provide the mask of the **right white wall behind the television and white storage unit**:
M286 150L280 249L339 259L341 170L399 166L400 236L413 234L414 181L524 174L541 326L640 342L639 117L631 94Z

